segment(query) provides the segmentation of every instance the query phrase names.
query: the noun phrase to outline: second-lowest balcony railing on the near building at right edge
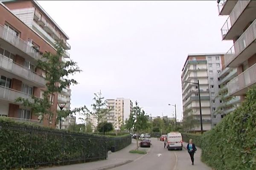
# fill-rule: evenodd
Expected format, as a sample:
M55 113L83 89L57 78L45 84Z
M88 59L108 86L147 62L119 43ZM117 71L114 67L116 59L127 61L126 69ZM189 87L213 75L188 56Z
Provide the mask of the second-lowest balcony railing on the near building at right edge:
M256 20L244 31L234 45L224 55L227 67L238 55L256 40Z

